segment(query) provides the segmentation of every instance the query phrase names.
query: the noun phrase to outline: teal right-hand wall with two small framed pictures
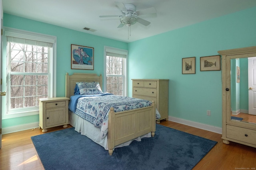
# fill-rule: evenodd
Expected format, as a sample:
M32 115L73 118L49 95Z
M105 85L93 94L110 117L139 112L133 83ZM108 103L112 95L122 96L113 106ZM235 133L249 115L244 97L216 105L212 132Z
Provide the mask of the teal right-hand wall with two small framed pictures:
M200 57L256 46L255 18L250 8L129 43L129 96L132 78L170 79L169 116L222 127L221 71L200 71ZM196 74L182 74L186 57L196 57Z

